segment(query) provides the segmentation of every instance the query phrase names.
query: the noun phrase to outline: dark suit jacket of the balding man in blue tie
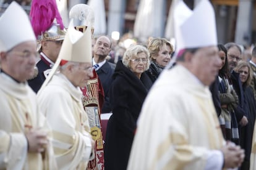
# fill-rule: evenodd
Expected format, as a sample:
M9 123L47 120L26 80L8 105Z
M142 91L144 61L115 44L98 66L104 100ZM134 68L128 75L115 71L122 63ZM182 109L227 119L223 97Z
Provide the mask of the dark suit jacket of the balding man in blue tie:
M111 83L112 83L114 67L115 67L115 65L113 63L109 63L106 61L106 63L103 64L103 66L100 67L100 69L96 71L100 78L100 82L103 86L104 95L105 95L105 100L103 103L101 113L109 113L111 111L111 108L109 105L108 91L109 91L109 87L111 86Z

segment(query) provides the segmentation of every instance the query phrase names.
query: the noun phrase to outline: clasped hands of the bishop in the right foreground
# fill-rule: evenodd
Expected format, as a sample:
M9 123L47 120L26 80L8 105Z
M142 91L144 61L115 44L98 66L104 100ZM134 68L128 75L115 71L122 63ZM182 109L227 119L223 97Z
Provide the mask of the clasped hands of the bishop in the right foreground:
M224 157L223 168L237 168L244 161L244 150L231 142L221 148L221 152Z

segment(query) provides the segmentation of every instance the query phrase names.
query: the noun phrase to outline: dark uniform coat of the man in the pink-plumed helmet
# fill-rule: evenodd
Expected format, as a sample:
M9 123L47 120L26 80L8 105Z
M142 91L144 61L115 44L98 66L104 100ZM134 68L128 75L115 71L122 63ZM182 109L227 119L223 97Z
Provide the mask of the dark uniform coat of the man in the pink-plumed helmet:
M45 75L43 71L51 69L49 63L46 63L43 60L40 60L38 63L36 63L36 67L38 68L38 75L35 78L28 80L28 85L33 89L35 93L39 91L40 87L45 81Z

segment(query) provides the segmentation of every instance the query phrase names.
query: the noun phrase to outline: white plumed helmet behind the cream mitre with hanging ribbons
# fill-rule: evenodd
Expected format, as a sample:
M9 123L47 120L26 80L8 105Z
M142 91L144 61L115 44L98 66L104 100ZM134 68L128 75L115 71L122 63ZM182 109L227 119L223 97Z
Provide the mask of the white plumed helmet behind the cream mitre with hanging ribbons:
M75 29L84 32L88 26L94 31L95 16L92 7L77 4L70 9L69 18L74 20Z

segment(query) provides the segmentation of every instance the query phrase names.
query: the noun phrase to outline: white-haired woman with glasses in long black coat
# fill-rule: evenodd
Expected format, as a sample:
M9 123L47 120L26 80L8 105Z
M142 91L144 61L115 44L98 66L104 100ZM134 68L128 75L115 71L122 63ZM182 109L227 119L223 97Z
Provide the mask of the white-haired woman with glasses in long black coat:
M117 62L109 99L113 115L106 130L105 169L126 169L136 123L152 83L145 70L149 52L141 45L129 47Z

